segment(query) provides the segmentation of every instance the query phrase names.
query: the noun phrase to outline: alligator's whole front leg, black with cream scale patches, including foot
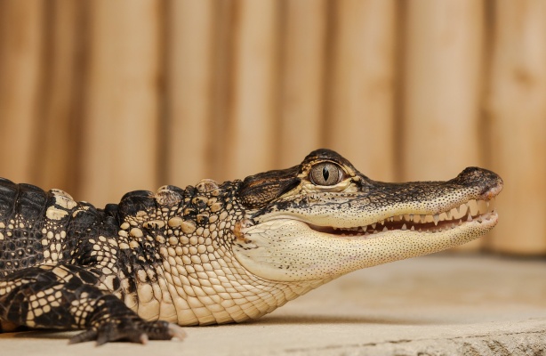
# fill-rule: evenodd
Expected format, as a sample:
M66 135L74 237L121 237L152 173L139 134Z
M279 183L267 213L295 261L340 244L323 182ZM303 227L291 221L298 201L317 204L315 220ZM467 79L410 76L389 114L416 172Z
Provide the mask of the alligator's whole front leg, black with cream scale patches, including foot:
M142 320L115 295L100 288L90 271L73 265L43 265L0 277L0 320L30 328L86 329L70 343L183 338L165 321Z

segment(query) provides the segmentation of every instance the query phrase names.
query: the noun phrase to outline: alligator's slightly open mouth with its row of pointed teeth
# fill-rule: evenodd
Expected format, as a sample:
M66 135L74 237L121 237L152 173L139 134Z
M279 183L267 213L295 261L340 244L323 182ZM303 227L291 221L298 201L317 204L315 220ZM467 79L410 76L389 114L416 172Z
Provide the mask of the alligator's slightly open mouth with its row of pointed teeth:
M416 231L435 233L449 231L464 223L490 223L496 221L494 198L489 200L471 199L461 206L438 214L402 214L393 215L365 226L337 228L308 223L312 230L340 237L374 238L388 231Z

